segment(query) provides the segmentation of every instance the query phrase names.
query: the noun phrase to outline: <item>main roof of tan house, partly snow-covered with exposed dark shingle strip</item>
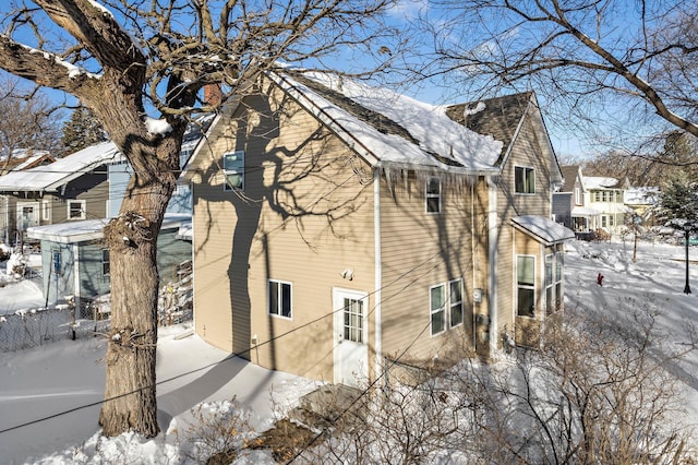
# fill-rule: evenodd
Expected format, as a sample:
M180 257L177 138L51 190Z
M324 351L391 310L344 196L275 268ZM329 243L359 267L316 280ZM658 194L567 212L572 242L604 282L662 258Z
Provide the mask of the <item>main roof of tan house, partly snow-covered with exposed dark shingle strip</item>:
M503 142L454 121L446 107L334 74L269 76L373 166L495 171Z

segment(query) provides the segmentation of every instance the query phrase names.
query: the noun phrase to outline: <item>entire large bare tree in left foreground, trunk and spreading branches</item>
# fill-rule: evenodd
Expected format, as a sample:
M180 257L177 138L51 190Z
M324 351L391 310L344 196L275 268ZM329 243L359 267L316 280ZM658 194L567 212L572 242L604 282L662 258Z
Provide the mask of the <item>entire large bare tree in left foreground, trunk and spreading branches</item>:
M177 186L190 117L253 92L255 76L324 60L383 69L399 55L384 24L392 0L12 0L2 2L0 68L77 97L101 121L133 176L111 251L111 329L103 432L157 434L156 240ZM356 56L360 59L354 59ZM220 98L201 90L213 84Z

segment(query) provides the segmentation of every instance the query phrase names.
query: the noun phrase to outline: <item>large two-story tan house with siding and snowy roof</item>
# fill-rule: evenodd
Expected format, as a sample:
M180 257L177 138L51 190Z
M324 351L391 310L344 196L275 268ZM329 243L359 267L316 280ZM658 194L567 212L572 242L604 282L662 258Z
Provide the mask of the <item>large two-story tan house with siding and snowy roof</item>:
M550 219L562 176L532 93L433 107L290 69L251 86L183 176L197 334L345 384L537 344L574 234Z

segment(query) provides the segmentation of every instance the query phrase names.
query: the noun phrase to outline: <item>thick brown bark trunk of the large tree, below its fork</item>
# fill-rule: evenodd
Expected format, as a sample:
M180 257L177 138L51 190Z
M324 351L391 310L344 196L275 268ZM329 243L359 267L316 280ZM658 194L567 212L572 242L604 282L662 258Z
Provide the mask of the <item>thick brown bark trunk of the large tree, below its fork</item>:
M137 171L132 184L139 183ZM141 180L142 181L142 180ZM119 217L105 227L111 260L111 330L107 348L103 434L159 432L156 401L157 235L173 177L130 190Z

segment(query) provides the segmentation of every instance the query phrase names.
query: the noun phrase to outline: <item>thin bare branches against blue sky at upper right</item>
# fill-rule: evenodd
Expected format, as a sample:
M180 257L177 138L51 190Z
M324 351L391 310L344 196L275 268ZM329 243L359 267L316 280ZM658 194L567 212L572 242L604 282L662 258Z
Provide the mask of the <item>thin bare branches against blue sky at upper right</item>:
M615 150L698 136L695 1L434 0L424 20L424 75L474 95L534 88L556 124L590 134L593 121Z

